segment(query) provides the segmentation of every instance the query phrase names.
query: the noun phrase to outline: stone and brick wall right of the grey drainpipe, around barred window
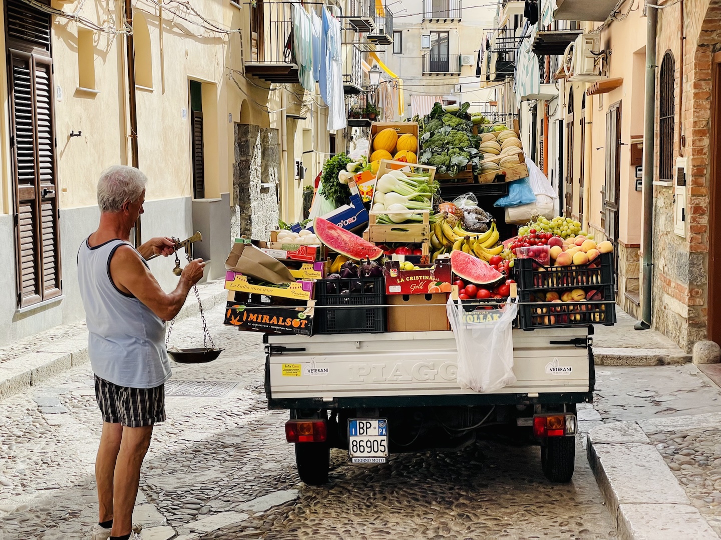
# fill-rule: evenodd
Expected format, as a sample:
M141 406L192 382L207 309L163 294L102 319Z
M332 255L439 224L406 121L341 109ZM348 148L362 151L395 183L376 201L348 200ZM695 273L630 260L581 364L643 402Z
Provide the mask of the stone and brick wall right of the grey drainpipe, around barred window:
M659 66L667 50L676 60L676 117L681 123L676 122L674 158L681 150L689 159L687 228L685 238L673 233L673 187L655 186L653 325L691 351L696 341L706 337L711 59L720 48L721 0L684 2L683 61L680 10L681 4L660 10L656 54ZM678 130L685 137L682 148ZM656 133L654 176L658 178L658 123Z

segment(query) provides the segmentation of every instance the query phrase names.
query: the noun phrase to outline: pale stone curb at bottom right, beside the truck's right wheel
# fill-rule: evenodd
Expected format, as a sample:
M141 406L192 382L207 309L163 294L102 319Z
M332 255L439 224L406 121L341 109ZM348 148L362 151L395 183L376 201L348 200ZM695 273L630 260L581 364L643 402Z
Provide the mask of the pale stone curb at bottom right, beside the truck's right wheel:
M674 420L683 423L682 418L693 420ZM588 463L614 516L619 539L719 540L639 423L598 426L586 437Z

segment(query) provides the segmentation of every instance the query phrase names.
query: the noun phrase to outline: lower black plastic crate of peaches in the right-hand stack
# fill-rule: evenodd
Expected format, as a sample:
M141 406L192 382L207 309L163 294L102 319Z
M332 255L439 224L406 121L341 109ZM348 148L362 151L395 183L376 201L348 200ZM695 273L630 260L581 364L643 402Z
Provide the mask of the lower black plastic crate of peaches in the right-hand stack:
M523 330L616 323L616 302L534 302L518 306ZM523 301L522 301L523 302Z

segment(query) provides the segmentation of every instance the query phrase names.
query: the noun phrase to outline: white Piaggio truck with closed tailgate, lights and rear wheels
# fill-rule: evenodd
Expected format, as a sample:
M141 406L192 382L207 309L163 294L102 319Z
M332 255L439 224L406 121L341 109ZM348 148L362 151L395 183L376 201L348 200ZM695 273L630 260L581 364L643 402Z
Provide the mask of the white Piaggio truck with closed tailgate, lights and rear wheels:
M266 335L268 408L290 410L286 439L309 485L327 482L331 448L382 463L509 427L540 443L549 480L568 482L575 404L593 399L592 334L591 326L513 330L517 381L492 393L459 387L451 331Z

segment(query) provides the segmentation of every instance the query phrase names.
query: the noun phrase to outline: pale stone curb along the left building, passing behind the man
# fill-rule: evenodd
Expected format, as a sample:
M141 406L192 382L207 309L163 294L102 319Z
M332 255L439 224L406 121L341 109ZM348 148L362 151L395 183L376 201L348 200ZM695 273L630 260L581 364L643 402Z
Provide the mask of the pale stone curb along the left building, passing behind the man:
M198 287L205 312L225 304L228 292L225 289L219 292L217 290L223 283L223 280L216 280ZM195 317L199 312L198 301L191 291L175 320L178 322ZM86 333L85 336L51 341L35 352L3 362L0 364L0 401L22 392L27 387L37 386L45 379L55 377L71 367L86 364L89 361L87 343Z

